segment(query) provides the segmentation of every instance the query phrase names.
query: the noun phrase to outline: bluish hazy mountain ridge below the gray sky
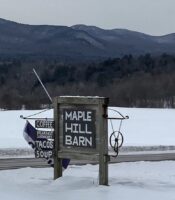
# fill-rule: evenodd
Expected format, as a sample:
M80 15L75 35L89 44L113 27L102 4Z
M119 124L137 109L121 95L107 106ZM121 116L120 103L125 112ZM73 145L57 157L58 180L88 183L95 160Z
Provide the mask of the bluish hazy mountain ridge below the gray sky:
M125 54L175 54L175 33L151 36L96 26L28 25L0 18L0 55L68 59L120 57Z

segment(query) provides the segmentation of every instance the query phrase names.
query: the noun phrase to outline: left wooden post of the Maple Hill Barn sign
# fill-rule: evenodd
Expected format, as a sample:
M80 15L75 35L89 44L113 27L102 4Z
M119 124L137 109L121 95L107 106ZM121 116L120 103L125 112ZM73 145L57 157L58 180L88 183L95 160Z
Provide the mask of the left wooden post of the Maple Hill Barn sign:
M62 159L58 158L59 151L59 113L57 98L54 99L54 180L62 176Z

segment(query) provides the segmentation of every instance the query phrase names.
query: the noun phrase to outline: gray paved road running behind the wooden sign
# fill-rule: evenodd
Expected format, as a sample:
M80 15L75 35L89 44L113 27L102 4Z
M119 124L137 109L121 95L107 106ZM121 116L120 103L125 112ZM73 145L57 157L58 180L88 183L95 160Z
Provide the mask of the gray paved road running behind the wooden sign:
M148 153L148 154L125 154L119 155L117 158L111 157L110 163L120 162L136 162L136 161L164 161L164 160L175 160L175 153ZM86 160L72 160L71 164L86 164L97 162L86 161ZM23 167L49 167L43 159L35 158L8 158L0 159L0 170L7 169L18 169Z

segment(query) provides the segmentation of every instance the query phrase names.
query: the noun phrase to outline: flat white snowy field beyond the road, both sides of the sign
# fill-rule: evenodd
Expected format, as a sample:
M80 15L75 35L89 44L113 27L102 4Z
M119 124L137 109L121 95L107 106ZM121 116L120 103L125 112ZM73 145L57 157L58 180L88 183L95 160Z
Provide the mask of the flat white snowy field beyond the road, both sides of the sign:
M121 132L124 135L124 146L175 146L175 109L141 109L141 108L112 108L128 115L123 120ZM38 111L0 111L1 131L0 149L30 148L23 139L25 120L20 115L28 116ZM49 110L36 117L52 117ZM109 111L110 117L119 117ZM34 121L30 121L34 123ZM114 130L119 129L119 120L113 120ZM111 133L109 123L108 134Z

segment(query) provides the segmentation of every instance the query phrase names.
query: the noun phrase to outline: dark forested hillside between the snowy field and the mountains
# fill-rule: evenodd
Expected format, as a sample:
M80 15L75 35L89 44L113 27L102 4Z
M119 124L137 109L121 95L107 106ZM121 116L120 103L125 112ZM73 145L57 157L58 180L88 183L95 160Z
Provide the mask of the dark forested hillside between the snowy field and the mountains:
M0 58L1 108L50 104L33 68L52 97L95 95L109 97L113 106L175 107L175 56L145 54L85 64Z

